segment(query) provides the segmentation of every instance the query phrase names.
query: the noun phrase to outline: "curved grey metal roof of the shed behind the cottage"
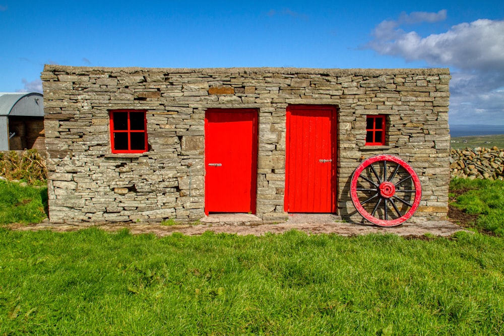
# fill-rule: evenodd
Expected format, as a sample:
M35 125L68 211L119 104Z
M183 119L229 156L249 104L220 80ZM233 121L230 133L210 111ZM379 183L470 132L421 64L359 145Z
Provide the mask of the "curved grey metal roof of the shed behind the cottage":
M37 92L0 92L0 115L43 117L43 102L43 95Z

